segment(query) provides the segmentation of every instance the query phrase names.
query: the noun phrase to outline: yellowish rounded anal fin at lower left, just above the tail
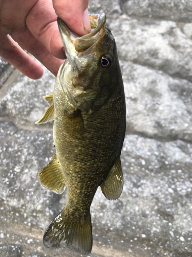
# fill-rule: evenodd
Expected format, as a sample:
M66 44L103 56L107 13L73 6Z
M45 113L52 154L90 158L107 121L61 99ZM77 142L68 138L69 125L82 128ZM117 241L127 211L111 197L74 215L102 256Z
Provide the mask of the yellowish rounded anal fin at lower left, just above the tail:
M42 186L50 189L56 194L62 194L66 189L66 180L63 176L59 161L56 156L39 172L38 179Z

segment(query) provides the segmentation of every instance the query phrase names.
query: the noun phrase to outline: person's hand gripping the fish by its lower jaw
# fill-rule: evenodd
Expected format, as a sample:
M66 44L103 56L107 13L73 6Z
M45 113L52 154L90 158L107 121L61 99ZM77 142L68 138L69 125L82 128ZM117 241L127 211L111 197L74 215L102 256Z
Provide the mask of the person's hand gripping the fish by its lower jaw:
M55 10L52 0L0 0L0 56L32 79L44 71L20 46L56 76L63 63L60 59L66 58L57 15L80 35L87 34L84 26L91 29L86 10L89 0L53 1Z

